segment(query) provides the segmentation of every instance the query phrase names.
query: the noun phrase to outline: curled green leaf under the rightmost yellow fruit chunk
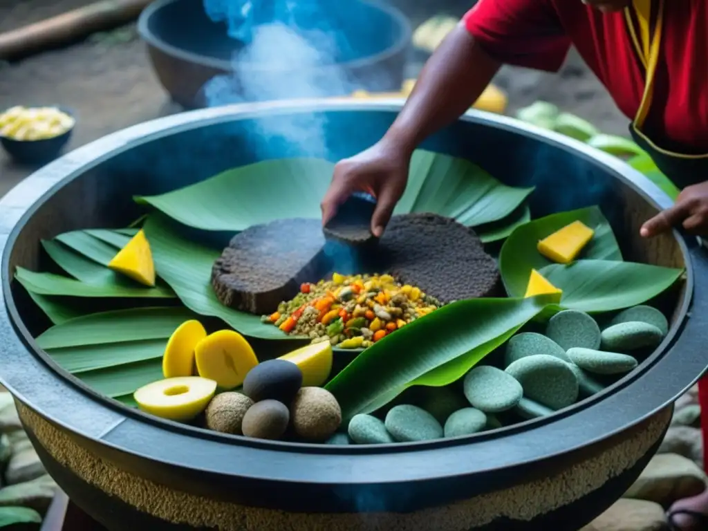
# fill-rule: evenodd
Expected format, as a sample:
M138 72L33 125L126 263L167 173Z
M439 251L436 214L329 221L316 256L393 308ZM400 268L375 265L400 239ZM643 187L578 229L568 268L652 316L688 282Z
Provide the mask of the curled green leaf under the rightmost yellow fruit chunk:
M578 220L595 231L593 239L578 258L622 260L612 227L598 207L559 212L534 219L515 229L499 253L499 271L509 297L523 297L531 270L539 270L552 263L538 252L539 240Z

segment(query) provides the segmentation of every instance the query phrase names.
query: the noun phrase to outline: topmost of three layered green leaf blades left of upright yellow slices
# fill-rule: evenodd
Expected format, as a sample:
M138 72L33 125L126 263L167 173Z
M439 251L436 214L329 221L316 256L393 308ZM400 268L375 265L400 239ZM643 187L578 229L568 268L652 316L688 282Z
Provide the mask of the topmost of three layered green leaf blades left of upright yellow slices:
M197 319L183 307L135 308L89 314L52 326L37 338L40 348L83 347L103 343L165 339L184 321Z

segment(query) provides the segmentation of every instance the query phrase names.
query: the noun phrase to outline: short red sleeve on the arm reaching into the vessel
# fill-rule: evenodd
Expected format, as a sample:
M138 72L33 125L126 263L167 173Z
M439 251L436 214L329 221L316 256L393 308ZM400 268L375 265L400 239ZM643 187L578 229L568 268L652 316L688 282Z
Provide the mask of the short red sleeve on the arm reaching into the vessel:
M556 72L571 45L552 0L479 0L463 20L485 52L518 67Z

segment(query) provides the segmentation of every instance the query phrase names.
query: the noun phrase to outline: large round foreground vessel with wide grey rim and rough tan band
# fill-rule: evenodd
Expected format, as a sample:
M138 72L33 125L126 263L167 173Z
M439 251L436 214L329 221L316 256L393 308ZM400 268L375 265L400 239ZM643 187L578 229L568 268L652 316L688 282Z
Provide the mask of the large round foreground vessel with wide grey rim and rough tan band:
M535 216L599 204L624 256L685 266L656 353L612 387L547 418L461 440L333 447L245 439L104 399L39 350L45 323L11 282L38 268L40 239L134 219L132 195L200 181L256 159L302 156L321 125L332 159L375 142L399 103L285 101L197 110L67 154L0 200L0 380L47 470L110 530L577 530L613 503L656 452L673 400L707 363L708 261L678 233L639 225L669 200L619 160L520 122L471 112L425 146L465 156L510 185L533 183ZM136 527L139 526L139 527Z

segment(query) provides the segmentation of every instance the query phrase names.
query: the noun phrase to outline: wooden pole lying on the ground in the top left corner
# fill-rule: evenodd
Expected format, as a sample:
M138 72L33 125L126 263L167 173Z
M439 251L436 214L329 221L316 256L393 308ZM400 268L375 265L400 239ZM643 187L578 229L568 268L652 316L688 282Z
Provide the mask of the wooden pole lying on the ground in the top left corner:
M134 21L150 0L100 0L23 28L0 33L0 60L11 61L76 42Z

